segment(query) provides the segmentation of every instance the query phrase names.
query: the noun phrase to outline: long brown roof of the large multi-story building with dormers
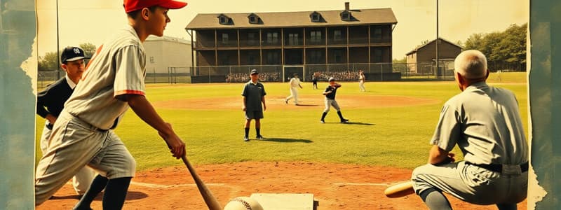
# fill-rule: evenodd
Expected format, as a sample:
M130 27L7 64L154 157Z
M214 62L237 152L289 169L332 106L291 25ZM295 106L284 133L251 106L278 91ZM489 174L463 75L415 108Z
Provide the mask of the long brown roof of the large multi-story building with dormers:
M263 22L260 25L250 24L248 15L251 13L224 13L232 19L233 25L220 25L213 14L197 14L185 29L238 29L238 28L278 28L278 27L326 27L343 25L376 25L397 24L396 16L391 8L373 8L351 10L356 21L341 20L342 10L316 11L321 14L325 22L311 22L310 14L313 11L282 12L282 13L255 13Z

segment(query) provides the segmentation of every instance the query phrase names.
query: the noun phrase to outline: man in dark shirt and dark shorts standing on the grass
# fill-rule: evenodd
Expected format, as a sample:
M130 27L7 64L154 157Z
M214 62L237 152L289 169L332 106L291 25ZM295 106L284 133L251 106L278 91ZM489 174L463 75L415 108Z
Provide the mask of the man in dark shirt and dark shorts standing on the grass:
M255 119L255 132L257 132L257 139L263 139L261 135L261 119L263 118L263 111L267 109L265 104L265 87L259 83L259 72L256 69L250 72L251 80L243 85L241 95L243 96L243 107L245 111L245 136L243 141L249 141L251 120ZM263 104L263 106L261 106Z

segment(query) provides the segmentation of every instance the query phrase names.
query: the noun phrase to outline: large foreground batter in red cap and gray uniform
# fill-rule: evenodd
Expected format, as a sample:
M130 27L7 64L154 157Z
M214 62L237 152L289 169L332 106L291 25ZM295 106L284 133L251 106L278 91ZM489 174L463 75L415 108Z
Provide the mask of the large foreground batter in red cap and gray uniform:
M124 1L128 26L97 49L53 126L48 153L36 169L36 204L88 165L107 178L103 209L122 209L136 163L110 130L128 107L158 131L173 157L184 155L184 142L144 97L146 55L142 42L149 35L163 36L170 22L168 10L186 5L172 0ZM89 190L82 200L95 194ZM74 209L90 209L89 203L81 201Z

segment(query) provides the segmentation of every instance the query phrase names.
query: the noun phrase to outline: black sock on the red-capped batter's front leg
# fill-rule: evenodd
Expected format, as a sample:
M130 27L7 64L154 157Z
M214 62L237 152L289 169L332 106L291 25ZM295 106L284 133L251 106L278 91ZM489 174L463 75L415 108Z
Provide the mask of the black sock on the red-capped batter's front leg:
M103 194L103 209L123 209L130 179L133 179L133 177L122 177L107 181Z

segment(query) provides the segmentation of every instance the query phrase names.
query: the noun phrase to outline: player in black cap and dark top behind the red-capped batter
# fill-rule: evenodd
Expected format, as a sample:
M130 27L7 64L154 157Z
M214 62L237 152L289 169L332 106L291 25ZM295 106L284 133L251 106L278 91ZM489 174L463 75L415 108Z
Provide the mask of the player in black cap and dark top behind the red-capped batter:
M48 139L50 137L50 130L53 129L60 111L64 108L65 102L74 92L74 87L80 81L82 73L85 69L84 59L86 55L81 48L67 47L62 50L60 66L66 71L66 76L60 78L55 83L48 85L48 87L37 94L37 114L45 118L45 127L43 127L43 134L41 135L40 147L41 153L46 155L48 148ZM72 177L72 186L79 195L86 193L86 190L92 183L95 172L90 167L83 167L74 177Z

